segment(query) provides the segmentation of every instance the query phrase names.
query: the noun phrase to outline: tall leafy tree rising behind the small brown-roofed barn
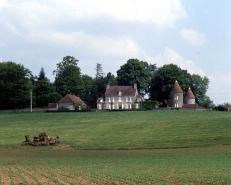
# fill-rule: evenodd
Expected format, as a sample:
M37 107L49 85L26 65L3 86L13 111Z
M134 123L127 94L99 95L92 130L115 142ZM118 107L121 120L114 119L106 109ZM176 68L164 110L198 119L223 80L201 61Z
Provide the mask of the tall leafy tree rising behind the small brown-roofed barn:
M84 84L81 78L80 68L77 66L78 60L72 56L66 56L59 62L57 69L53 71L56 74L55 87L62 96L66 94L84 95Z

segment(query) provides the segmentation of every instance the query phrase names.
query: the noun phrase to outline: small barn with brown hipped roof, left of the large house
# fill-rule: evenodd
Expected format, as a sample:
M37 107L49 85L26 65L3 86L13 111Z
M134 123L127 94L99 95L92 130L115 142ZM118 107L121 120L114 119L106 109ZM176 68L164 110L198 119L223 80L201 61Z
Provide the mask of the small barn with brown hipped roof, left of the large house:
M75 104L81 104L84 107L87 106L79 97L70 94L67 94L58 102L59 107L66 107L70 110L75 109ZM78 109L81 110L81 106Z

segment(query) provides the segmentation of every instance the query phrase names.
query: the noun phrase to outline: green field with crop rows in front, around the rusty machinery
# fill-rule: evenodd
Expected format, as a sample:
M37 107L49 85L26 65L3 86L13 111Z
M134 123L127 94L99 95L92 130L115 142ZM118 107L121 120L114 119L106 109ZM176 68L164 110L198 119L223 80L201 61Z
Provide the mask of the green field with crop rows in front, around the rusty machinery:
M0 114L2 184L231 184L231 113ZM20 146L24 135L60 137Z

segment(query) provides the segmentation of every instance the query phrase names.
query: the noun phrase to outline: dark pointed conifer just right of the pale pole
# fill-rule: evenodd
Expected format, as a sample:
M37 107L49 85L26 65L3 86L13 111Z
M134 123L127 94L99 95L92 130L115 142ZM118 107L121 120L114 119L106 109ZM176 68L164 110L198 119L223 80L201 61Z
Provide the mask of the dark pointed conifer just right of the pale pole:
M41 68L34 87L35 104L37 107L46 107L48 103L58 102L62 96L56 92L54 85L46 77Z

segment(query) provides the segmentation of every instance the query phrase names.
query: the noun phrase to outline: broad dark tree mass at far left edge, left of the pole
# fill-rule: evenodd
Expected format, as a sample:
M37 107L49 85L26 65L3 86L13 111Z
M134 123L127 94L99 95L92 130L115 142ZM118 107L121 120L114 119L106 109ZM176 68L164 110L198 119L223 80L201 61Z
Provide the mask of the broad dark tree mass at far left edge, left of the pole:
M0 109L30 106L31 71L14 62L0 63Z

